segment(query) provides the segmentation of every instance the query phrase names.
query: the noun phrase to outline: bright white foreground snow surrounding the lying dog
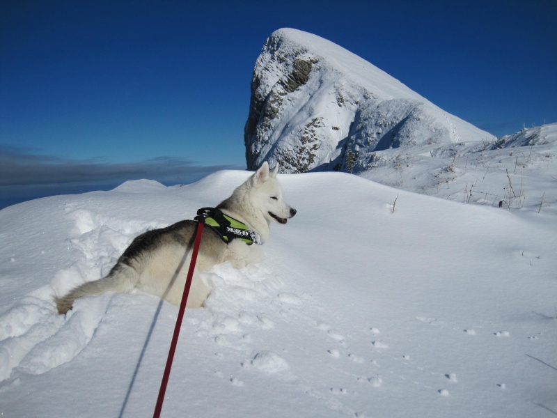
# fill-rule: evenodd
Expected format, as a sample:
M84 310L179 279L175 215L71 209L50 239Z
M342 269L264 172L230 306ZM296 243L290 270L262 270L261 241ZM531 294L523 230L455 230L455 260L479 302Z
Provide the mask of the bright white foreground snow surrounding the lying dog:
M486 165L499 164L496 152ZM526 203L510 208L346 173L280 175L297 215L272 225L259 265L205 273L216 288L186 310L162 415L554 416L557 169L545 152L525 164L547 177L524 176ZM407 171L423 173L418 157L407 187ZM455 164L446 185L466 181L470 165ZM150 416L178 307L107 294L64 317L52 297L248 175L139 180L1 210L0 416ZM420 184L439 186L429 179Z

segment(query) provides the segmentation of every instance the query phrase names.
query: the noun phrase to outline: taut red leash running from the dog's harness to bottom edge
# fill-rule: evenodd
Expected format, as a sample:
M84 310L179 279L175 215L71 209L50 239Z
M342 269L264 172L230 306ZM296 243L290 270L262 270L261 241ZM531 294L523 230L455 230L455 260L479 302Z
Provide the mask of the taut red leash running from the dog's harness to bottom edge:
M168 378L170 377L170 369L172 368L174 352L176 351L176 346L178 345L180 327L182 326L184 311L186 310L187 296L189 295L189 288L191 287L191 278L194 276L194 268L196 267L197 253L199 251L199 243L201 242L201 233L203 232L204 222L204 219L202 220L201 216L199 218L200 219L197 224L196 240L194 242L194 251L191 253L191 261L189 263L189 270L187 272L186 285L184 286L184 294L182 295L182 302L180 303L180 310L178 311L178 318L176 319L176 325L174 327L174 334L172 336L170 350L168 350L168 359L166 359L166 366L164 368L164 374L162 375L161 388L159 389L159 398L157 399L157 405L155 406L155 413L152 415L153 418L158 418L161 415L162 403L164 402L164 394L166 392L166 385L168 384Z

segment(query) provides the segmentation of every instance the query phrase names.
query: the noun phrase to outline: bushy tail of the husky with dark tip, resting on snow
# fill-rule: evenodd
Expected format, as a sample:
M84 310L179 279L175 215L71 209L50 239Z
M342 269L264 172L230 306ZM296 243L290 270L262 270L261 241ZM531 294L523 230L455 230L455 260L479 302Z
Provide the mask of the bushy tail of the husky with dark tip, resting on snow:
M107 277L88 281L73 288L62 297L54 297L56 309L58 309L58 314L65 314L72 309L74 300L80 297L102 295L102 293L111 291L129 293L134 290L138 281L139 275L133 267L124 263L116 263Z

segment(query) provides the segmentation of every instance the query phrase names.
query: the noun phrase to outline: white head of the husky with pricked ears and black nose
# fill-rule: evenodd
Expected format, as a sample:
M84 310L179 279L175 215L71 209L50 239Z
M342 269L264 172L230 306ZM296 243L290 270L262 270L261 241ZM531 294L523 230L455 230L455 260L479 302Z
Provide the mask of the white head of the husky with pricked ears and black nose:
M288 219L296 215L296 210L284 201L283 188L278 180L278 164L271 171L269 164L264 162L260 169L251 176L256 205L269 222L285 224Z

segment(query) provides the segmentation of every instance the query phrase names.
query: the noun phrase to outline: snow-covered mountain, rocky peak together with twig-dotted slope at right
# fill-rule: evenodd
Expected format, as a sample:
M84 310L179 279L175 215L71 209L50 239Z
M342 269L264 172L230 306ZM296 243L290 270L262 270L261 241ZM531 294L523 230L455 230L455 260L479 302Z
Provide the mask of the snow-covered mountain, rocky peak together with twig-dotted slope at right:
M464 203L535 208L556 201L557 124L497 139L439 109L359 56L295 29L258 57L246 161L285 173L345 171ZM542 192L539 192L539 191Z

